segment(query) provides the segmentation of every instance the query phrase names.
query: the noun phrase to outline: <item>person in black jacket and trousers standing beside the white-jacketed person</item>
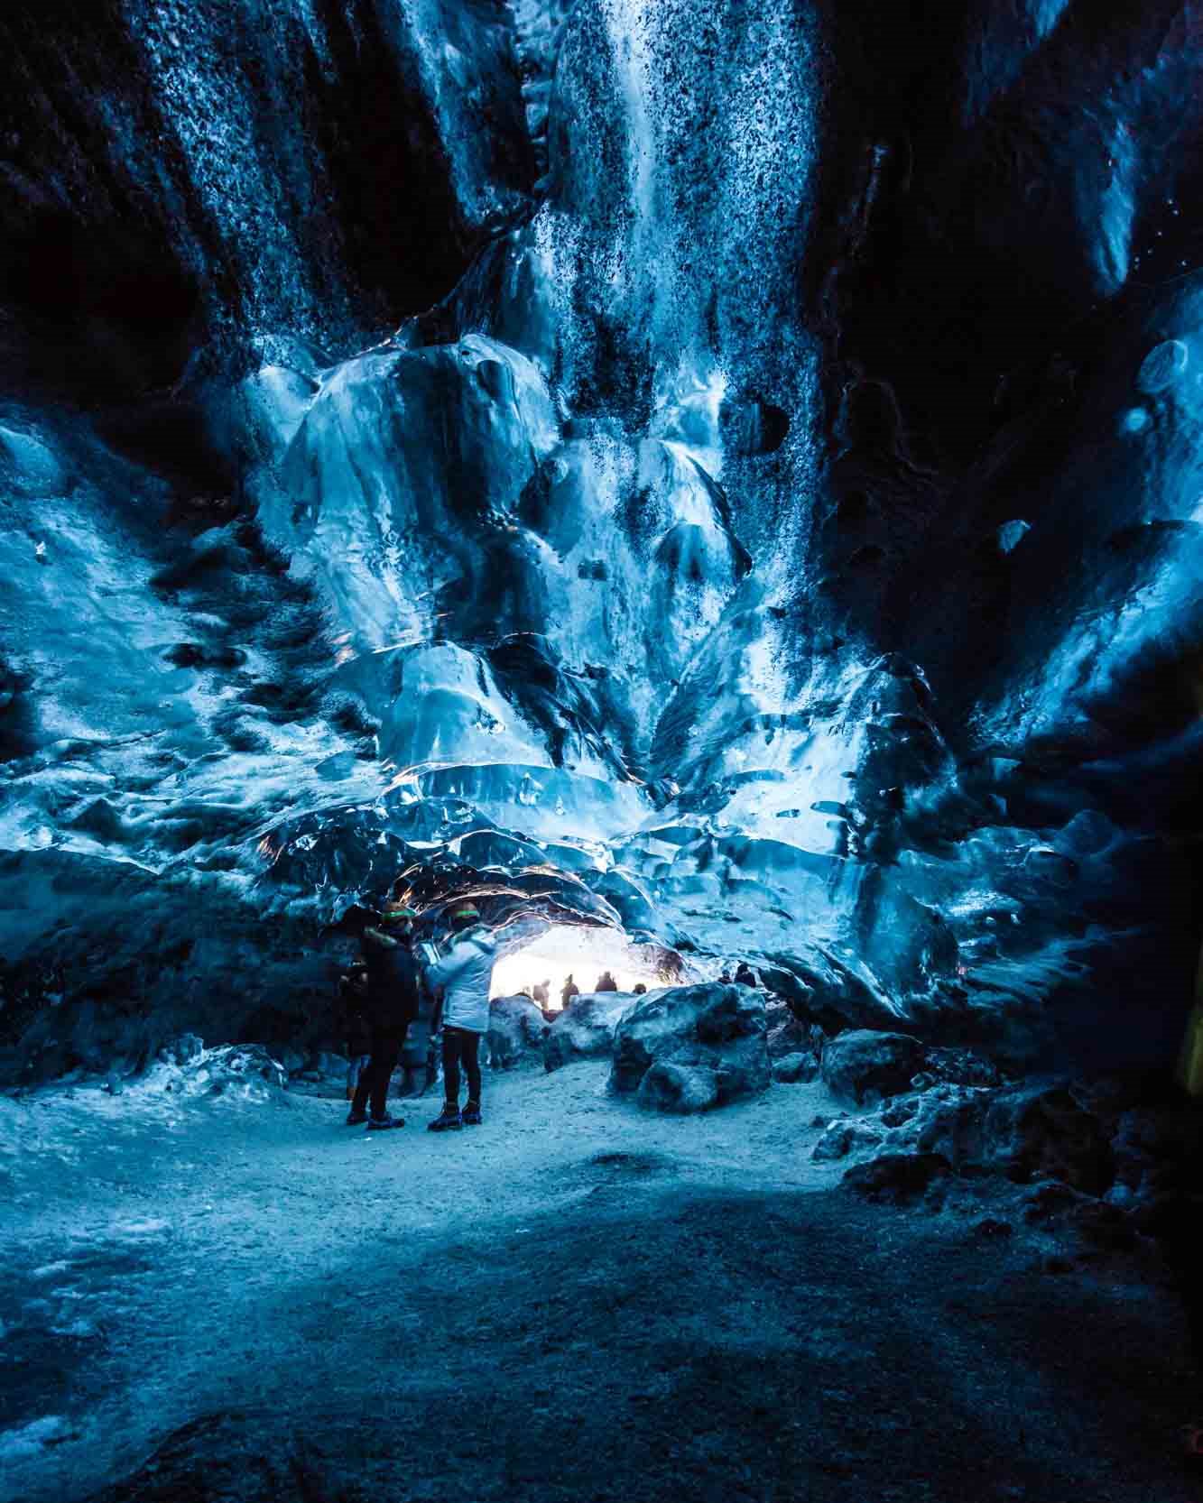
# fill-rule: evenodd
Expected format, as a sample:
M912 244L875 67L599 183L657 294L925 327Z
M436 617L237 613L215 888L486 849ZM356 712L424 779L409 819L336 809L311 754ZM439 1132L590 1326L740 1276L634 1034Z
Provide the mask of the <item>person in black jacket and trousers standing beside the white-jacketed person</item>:
M367 1121L368 1132L405 1127L403 1117L388 1114L388 1082L397 1067L406 1030L418 1015L418 960L414 954L414 920L405 903L389 899L379 924L364 929L367 960L365 1015L371 1031L371 1058L359 1076L347 1126ZM365 1108L371 1115L368 1117Z

